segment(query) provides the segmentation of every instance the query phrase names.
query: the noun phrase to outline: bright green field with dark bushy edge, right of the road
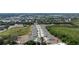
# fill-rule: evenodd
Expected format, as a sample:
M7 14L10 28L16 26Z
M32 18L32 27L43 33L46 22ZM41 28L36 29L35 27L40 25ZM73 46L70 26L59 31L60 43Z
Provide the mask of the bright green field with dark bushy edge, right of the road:
M68 45L79 45L79 28L73 26L53 25L47 27L48 31L60 38L60 40Z

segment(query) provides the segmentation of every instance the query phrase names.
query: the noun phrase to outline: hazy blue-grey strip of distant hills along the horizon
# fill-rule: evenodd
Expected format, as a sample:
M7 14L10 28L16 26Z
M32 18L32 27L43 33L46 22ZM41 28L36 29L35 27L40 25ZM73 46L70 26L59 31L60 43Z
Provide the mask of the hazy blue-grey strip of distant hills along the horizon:
M79 13L0 13L0 16L18 16L18 15L79 16Z

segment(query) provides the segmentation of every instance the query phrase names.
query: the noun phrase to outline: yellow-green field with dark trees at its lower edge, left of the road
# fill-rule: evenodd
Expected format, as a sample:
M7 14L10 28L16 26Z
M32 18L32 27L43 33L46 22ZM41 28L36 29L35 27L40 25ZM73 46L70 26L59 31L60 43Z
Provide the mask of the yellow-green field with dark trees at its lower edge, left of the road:
M31 31L31 26L15 27L0 32L0 44L17 44L15 40L18 36L27 35Z

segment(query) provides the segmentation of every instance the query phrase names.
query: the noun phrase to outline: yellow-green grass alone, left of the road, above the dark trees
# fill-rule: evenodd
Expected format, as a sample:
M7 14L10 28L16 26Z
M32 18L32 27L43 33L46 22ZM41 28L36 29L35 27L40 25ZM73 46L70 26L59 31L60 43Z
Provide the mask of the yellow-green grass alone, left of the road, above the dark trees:
M30 30L31 30L31 26L11 28L4 32L0 32L0 37L2 37L2 39L4 40L14 39L15 36L17 37L17 36L28 34Z

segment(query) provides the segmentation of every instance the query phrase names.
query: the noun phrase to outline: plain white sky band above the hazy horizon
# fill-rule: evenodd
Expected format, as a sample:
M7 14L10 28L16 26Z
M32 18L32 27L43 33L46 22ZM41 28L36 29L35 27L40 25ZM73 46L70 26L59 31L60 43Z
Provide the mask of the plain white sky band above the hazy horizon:
M78 0L0 0L0 13L79 13Z

